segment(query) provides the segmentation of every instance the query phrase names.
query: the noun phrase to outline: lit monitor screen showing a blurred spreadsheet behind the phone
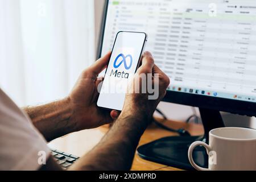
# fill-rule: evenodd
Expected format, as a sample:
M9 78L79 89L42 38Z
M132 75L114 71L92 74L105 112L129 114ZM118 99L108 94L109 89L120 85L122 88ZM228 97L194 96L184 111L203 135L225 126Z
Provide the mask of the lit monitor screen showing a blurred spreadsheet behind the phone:
M256 4L251 0L110 0L101 55L118 31L148 34L168 90L256 102Z

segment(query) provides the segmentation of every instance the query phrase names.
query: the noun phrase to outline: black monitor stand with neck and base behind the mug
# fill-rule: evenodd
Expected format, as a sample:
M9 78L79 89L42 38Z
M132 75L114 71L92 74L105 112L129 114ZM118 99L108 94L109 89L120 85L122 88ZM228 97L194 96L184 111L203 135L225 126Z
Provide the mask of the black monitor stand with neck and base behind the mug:
M220 111L199 108L204 135L195 137L165 137L138 147L138 155L146 160L181 169L193 169L188 160L188 147L196 140L209 143L209 131L224 127ZM193 159L201 167L208 167L204 147L196 147Z

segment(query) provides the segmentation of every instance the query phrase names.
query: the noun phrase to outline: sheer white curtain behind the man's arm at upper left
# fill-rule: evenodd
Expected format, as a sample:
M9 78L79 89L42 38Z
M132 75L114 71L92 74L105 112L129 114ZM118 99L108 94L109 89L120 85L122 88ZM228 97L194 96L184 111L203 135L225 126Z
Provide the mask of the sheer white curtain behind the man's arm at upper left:
M94 37L93 0L0 0L0 87L20 106L67 96Z

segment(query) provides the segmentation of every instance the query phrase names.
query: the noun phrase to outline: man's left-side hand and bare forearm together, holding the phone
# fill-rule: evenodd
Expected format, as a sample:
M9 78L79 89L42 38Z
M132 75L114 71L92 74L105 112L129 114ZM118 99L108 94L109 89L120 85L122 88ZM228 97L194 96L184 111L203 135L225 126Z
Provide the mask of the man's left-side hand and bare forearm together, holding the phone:
M109 57L110 52L82 72L72 92L63 100L46 105L23 107L34 126L48 141L113 121L110 111L96 106L99 94L97 87L101 82L97 76L106 68ZM111 115L116 117L116 111L111 111Z

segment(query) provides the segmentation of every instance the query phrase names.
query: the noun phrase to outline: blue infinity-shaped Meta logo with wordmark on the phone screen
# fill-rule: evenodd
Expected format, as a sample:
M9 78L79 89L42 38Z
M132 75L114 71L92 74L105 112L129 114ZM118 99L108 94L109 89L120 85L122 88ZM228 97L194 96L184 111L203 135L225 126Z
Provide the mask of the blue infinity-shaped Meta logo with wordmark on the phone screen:
M118 63L118 61L120 61ZM127 63L129 61L129 63ZM123 55L123 53L120 53L114 60L113 67L116 69L115 71L112 69L110 76L118 77L118 78L129 78L129 73L126 73L125 71L119 72L117 68L119 68L121 65L125 67L125 69L130 69L131 65L133 65L133 56L131 55Z

